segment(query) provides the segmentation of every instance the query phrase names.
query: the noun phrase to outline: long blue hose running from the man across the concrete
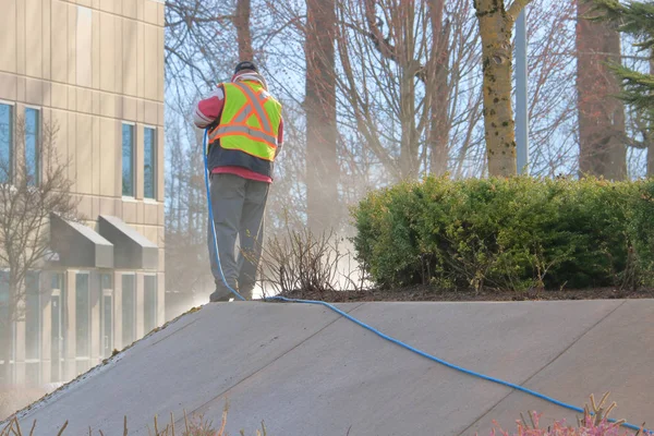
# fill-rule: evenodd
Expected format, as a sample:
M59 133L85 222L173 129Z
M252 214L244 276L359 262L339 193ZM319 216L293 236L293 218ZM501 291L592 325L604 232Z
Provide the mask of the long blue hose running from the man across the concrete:
M211 222L211 232L213 232L213 235L214 235L214 245L215 245L215 249L216 249L215 254L216 254L216 257L217 257L218 269L220 270L220 277L222 278L222 282L225 283L225 286L238 299L245 301L245 299L243 298L243 295L241 295L239 292L237 292L235 290L233 290L227 283L227 279L225 278L225 274L222 272L222 267L220 265L220 255L218 254L219 253L218 252L218 241L216 239L216 227L214 225L214 209L211 207L211 195L210 195L210 190L209 190L209 169L208 169L208 161L207 161L207 153L206 152L207 152L207 131L205 131L205 134L204 134L205 184L206 184L206 189L207 189L207 204L208 204L208 209L209 209L209 220ZM431 360L433 362L439 363L439 364L441 364L444 366L447 366L447 367L449 367L451 370L461 372L463 374L471 375L473 377L477 377L477 378L481 378L481 379L484 379L484 380L487 380L487 382L493 382L495 384L509 387L511 389L519 390L519 391L528 393L528 395L530 395L532 397L536 397L536 398L540 398L541 400L545 400L545 401L548 401L548 402L550 402L553 404L559 405L559 407L561 407L564 409L568 409L568 410L571 410L571 411L574 411L574 412L578 412L578 413L584 413L584 410L582 408L578 408L577 405L568 404L566 402L559 401L559 400L554 399L552 397L547 397L547 396L545 396L543 393L536 392L535 390L528 389L528 388L525 388L523 386L520 386L520 385L517 385L514 383L505 382L505 380L501 380L499 378L495 378L495 377L491 377L491 376L487 376L487 375L484 375L484 374L475 373L474 371L470 371L470 370L467 370L464 367L457 366L457 365L455 365L452 363L444 361L441 359L438 359L438 358L436 358L436 356L434 356L432 354L428 354L428 353L426 353L426 352L424 352L422 350L419 350L419 349L416 349L414 347L411 347L411 346L409 346L409 344L407 344L407 343L404 343L404 342L402 342L402 341L400 341L400 340L398 340L396 338L392 338L392 337L390 337L390 336L388 336L388 335L386 335L386 334L377 330L376 328L374 328L374 327L372 327L372 326L370 326L370 325L367 325L367 324L365 324L365 323L356 319L355 317L353 317L352 315L348 314L347 312L341 311L340 308L338 308L334 304L329 304L329 303L326 303L324 301L317 301L317 300L298 300L298 299L289 299L289 298L279 296L279 295L277 295L277 296L268 296L268 298L263 299L263 301L282 301L282 302L286 302L286 303L317 304L317 305L322 305L322 306L328 307L329 310L336 312L340 316L342 316L342 317L351 320L352 323L359 325L360 327L365 328L368 331L372 331L373 334L379 336L380 338L386 339L387 341L390 341L390 342L392 342L392 343L395 343L395 344L397 344L397 346L399 346L399 347L401 347L401 348L403 348L405 350L409 350L409 351L411 351L411 352L413 352L415 354L422 355L423 358L426 358L426 359L428 359L428 360ZM593 412L591 412L591 414ZM608 420L608 422L615 423L616 420ZM640 431L640 427L635 426L633 424L623 423L621 425L625 428L633 429L633 431L637 431L637 432ZM647 434L647 435L654 434L654 433L652 433L652 432L650 432L647 429L644 429L644 433Z

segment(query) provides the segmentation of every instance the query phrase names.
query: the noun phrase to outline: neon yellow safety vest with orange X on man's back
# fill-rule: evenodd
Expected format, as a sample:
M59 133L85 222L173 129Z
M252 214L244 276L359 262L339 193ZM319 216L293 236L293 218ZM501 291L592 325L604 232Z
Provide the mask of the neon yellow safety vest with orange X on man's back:
M207 152L219 143L223 150L241 152L270 164L275 161L281 105L257 82L223 83L222 87L225 106L220 123L209 132ZM229 158L222 164L232 165L232 160L234 159ZM247 159L241 156L237 160ZM261 164L253 162L253 166L261 167Z

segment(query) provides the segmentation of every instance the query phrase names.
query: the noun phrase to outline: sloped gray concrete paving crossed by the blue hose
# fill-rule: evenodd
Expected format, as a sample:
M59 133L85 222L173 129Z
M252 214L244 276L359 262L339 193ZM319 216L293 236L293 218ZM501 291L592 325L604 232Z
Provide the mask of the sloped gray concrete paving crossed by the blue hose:
M583 407L611 391L614 417L654 426L654 301L353 303L340 308L469 370ZM322 306L211 304L152 334L21 413L37 435L147 435L183 410L228 432L268 435L488 435L520 412L576 414L431 362ZM348 433L349 432L349 433ZM94 433L97 434L97 433ZM179 431L178 431L179 434Z

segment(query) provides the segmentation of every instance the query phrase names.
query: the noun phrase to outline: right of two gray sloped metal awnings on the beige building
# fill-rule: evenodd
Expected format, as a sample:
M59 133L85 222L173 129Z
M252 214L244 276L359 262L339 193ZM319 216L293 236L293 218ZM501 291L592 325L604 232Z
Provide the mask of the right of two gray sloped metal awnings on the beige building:
M122 219L99 216L100 234L113 244L113 266L124 269L157 269L159 247Z

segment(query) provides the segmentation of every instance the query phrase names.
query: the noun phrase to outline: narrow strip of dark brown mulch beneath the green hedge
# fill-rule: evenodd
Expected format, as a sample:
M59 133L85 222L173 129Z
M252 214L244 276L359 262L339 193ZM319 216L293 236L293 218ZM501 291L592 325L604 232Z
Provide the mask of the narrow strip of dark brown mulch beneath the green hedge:
M615 288L569 289L541 292L516 293L508 291L438 291L432 287L419 286L403 289L370 291L311 292L293 291L284 296L303 300L320 300L334 303L358 301L555 301L555 300L615 300L654 299L654 289L620 290Z

